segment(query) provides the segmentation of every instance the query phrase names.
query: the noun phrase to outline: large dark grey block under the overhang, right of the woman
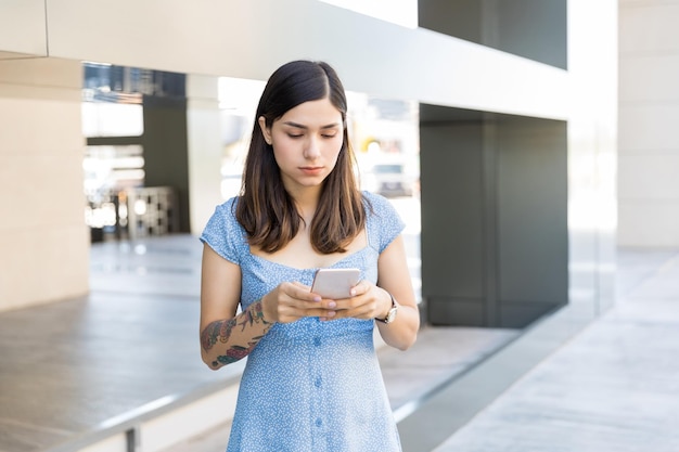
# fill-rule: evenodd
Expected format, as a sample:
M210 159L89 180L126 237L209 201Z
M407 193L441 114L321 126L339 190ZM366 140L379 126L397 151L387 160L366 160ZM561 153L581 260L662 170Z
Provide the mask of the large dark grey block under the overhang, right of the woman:
M566 305L565 122L427 105L420 120L428 323L523 327Z

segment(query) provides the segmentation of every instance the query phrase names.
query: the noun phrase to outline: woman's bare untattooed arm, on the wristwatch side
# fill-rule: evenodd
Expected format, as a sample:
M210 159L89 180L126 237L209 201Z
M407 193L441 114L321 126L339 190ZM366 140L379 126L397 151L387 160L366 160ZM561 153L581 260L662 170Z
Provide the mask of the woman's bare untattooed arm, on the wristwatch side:
M403 237L398 235L382 251L377 260L379 301L375 318L384 319L392 309L392 296L398 304L396 320L392 323L376 322L386 344L400 350L412 346L420 328L420 310L415 301L412 280L408 270ZM390 295L389 295L390 294Z

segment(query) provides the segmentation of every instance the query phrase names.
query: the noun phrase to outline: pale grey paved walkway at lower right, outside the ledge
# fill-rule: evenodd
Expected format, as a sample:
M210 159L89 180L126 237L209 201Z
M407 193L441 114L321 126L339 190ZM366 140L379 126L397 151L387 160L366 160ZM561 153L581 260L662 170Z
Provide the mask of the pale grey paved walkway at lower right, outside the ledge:
M679 451L679 251L620 249L615 306L435 452Z

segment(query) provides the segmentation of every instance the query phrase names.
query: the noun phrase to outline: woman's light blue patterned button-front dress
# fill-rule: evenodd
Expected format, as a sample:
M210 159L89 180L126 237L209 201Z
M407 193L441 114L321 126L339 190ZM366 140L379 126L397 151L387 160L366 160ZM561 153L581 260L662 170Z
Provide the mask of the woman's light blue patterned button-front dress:
M368 246L333 268L358 268L377 280L377 258L402 231L390 203L369 201ZM284 281L311 285L317 269L295 269L255 256L231 198L218 206L201 241L241 267L241 307ZM373 320L278 323L247 357L228 452L392 452L400 441L373 345Z

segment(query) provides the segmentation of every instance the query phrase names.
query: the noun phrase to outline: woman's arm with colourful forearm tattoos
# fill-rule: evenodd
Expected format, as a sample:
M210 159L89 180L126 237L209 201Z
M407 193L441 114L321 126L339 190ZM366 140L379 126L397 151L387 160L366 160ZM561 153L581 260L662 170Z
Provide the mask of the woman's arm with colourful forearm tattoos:
M241 268L203 246L201 276L201 356L217 370L249 354L274 322L261 300L235 314L241 298Z

